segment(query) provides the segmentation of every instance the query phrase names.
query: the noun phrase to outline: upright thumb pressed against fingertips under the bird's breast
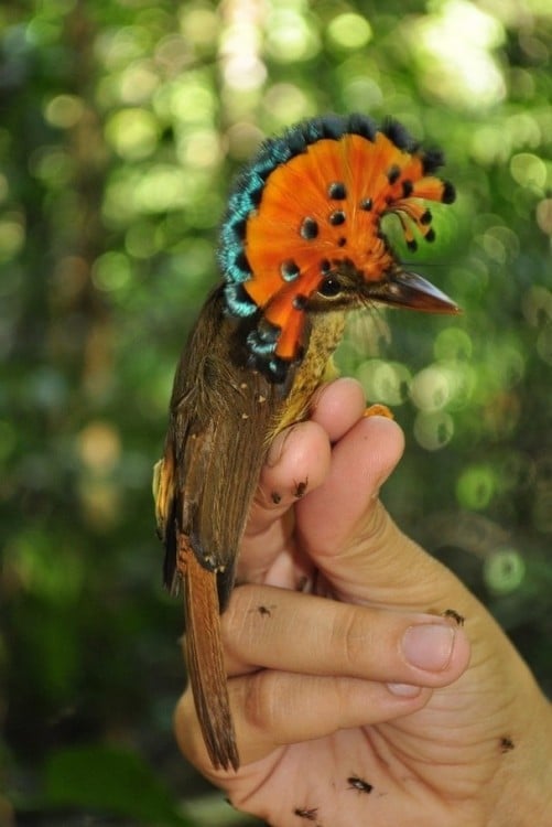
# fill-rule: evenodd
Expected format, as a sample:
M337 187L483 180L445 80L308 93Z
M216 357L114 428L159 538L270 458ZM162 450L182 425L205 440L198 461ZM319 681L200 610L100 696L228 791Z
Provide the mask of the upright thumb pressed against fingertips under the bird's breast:
M334 445L324 483L297 503L296 530L340 600L415 611L456 608L461 583L398 529L378 500L403 447L393 421L359 420ZM443 592L448 602L441 606Z

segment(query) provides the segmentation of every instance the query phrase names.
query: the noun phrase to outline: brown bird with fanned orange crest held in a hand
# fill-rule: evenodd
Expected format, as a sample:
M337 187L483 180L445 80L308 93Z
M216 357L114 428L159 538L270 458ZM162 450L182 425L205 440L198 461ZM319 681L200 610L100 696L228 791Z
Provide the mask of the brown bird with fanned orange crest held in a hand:
M230 190L221 278L176 367L153 475L163 580L184 593L187 674L216 770L240 764L220 615L268 448L309 416L350 311L459 312L382 227L394 216L411 251L434 239L427 202L455 200L443 163L397 120L328 114L264 140Z

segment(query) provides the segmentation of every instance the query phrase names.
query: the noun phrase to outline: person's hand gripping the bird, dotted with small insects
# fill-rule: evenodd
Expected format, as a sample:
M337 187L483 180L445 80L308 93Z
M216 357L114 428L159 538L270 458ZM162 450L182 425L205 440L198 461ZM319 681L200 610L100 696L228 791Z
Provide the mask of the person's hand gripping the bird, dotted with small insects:
M364 409L357 383L326 386L262 471L247 584L223 616L239 772L212 770L190 689L180 747L273 827L301 825L296 809L320 827L545 827L551 708L486 609L386 513L403 436Z

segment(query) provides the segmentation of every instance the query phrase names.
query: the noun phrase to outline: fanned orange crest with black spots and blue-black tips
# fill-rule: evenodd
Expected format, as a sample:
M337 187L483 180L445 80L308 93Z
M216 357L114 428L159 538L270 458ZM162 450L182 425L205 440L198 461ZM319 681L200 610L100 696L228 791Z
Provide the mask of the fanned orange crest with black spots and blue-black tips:
M219 250L230 314L256 316L256 366L279 380L301 358L307 302L339 268L369 284L398 268L385 215L398 216L411 249L413 228L433 240L424 202L454 201L432 174L441 163L400 125L358 115L305 121L261 147L230 196Z

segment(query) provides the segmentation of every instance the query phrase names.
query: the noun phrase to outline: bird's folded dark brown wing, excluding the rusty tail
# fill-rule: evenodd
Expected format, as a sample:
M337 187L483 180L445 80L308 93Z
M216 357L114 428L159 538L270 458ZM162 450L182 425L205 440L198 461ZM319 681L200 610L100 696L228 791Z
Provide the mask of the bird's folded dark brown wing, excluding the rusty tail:
M239 327L223 312L221 290L207 300L182 355L156 486L165 543L164 579L177 590L177 535L216 571L226 605L236 555L280 397L240 362Z

